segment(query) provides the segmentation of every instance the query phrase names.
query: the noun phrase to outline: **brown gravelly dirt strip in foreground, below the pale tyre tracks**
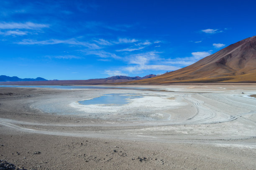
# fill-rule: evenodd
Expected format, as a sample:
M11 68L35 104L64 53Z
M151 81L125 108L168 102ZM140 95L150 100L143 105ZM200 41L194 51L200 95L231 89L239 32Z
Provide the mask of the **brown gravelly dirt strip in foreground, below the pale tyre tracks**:
M0 159L38 170L82 169L251 169L250 149L60 137L1 134Z

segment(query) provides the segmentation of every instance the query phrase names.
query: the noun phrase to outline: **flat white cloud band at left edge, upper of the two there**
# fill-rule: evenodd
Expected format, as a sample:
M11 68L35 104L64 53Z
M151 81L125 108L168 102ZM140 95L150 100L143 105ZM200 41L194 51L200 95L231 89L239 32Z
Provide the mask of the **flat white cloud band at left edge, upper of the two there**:
M38 24L38 23L0 23L0 29L40 29L40 28L48 28L48 24Z

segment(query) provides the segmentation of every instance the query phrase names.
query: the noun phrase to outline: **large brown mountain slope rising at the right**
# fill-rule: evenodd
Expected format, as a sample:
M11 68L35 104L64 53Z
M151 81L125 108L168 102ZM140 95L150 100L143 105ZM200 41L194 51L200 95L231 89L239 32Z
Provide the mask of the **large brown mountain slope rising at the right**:
M234 43L177 71L125 84L196 82L256 82L256 36Z

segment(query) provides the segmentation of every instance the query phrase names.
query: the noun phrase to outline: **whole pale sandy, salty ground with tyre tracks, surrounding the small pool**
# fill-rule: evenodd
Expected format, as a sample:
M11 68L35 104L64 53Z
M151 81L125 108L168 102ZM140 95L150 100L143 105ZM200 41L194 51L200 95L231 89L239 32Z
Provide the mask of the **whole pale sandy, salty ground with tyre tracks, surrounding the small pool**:
M0 88L0 160L38 170L256 169L255 85L147 88ZM113 93L143 97L77 102Z

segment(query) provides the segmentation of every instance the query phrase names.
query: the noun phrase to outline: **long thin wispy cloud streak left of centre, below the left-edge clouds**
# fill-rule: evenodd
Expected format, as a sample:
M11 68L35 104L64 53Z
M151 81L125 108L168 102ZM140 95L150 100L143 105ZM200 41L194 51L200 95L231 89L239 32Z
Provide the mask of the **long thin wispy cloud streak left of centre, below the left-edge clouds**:
M97 46L95 43L87 43L87 42L81 42L77 41L75 39L68 39L68 40L58 40L58 39L50 39L50 40L44 40L44 41L37 41L32 39L24 39L17 44L23 44L23 45L52 45L52 44L69 44L69 45L78 45L78 46L85 46L91 49L99 49L100 47Z

